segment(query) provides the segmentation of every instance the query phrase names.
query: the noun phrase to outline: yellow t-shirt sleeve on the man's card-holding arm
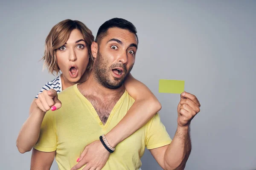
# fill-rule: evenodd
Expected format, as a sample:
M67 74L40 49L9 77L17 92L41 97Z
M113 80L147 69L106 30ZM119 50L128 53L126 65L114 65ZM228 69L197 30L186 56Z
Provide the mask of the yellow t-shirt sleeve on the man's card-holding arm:
M147 149L154 149L170 144L172 139L160 120L159 113L149 120L146 133L145 144Z

